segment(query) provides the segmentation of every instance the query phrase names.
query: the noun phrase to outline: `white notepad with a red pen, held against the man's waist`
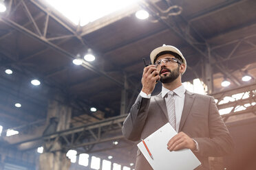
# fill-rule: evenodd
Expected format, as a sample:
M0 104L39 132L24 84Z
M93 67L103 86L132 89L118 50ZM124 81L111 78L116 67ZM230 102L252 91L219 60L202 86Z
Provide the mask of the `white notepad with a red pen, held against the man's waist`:
M138 148L154 170L191 170L201 165L201 162L195 157L191 149L179 151L169 151L167 149L167 143L175 134L177 132L170 123L167 123L145 138L144 141L153 159L149 156L143 143L138 143Z

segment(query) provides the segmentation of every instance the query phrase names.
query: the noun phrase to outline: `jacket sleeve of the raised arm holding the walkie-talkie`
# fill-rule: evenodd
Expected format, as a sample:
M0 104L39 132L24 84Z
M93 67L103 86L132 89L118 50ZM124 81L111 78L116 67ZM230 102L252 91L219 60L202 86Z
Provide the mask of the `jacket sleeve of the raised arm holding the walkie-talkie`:
M122 135L131 141L139 141L147 119L150 99L138 95L135 103L122 125Z

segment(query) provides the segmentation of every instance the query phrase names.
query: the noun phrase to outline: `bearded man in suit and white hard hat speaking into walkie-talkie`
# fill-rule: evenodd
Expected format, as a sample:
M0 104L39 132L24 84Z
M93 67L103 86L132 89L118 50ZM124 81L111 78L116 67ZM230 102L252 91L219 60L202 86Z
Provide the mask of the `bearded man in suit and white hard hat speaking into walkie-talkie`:
M169 122L178 134L170 138L167 149L191 149L202 163L197 169L209 169L209 156L224 156L233 150L233 141L213 97L185 90L181 78L186 60L177 48L158 47L150 59L153 64L143 71L142 90L123 123L122 134L139 141ZM157 80L162 82L162 92L151 96ZM140 150L135 169L152 169Z

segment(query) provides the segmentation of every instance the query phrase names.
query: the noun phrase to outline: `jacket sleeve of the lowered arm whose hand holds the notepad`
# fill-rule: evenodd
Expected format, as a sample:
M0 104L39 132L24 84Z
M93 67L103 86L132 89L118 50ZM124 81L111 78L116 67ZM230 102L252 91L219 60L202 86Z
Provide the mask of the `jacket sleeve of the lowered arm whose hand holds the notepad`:
M231 154L233 139L220 116L213 97L209 104L209 138L193 138L198 142L200 156L224 156Z

